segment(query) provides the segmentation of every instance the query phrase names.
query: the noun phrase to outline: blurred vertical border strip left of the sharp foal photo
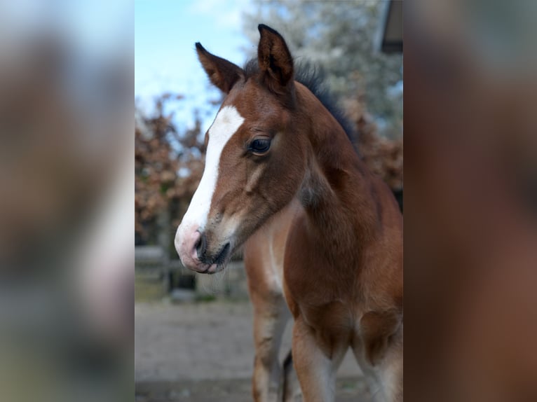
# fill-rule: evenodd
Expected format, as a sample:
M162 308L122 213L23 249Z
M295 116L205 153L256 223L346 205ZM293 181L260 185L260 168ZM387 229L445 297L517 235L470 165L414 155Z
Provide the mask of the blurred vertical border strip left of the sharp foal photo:
M132 398L132 1L0 2L0 400Z

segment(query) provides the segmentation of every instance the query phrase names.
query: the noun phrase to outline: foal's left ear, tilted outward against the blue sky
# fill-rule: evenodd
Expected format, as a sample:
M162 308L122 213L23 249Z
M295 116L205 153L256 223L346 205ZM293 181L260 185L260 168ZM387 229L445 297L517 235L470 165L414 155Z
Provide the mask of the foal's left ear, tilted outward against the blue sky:
M243 69L222 57L212 55L199 42L196 43L196 52L205 73L219 90L229 93L239 78L244 76Z

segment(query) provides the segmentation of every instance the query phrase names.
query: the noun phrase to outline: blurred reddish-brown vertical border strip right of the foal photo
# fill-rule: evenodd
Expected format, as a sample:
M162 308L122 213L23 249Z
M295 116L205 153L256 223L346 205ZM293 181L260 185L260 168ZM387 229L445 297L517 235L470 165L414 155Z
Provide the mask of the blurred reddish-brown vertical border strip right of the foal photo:
M537 400L536 11L404 1L409 401Z

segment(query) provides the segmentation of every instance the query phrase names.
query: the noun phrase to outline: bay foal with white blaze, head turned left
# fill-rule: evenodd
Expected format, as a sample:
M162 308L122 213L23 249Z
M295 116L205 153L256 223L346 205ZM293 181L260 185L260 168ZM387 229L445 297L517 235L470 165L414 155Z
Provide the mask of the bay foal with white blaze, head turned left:
M381 401L402 401L402 215L337 118L295 79L287 43L259 25L243 69L196 51L224 92L205 134L205 169L175 247L195 272L243 249L254 307L254 401L281 401L281 333L304 402L334 401L350 347Z

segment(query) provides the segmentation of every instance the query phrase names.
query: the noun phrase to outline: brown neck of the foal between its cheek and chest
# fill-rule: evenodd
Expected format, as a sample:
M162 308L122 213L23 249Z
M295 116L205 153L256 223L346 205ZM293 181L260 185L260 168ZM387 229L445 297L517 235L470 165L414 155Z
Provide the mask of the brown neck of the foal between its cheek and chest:
M379 228L372 174L334 116L311 92L300 92L302 113L314 118L308 126L311 146L306 147L299 200L320 236L337 238L341 247L356 249L357 240L358 246L365 244Z

